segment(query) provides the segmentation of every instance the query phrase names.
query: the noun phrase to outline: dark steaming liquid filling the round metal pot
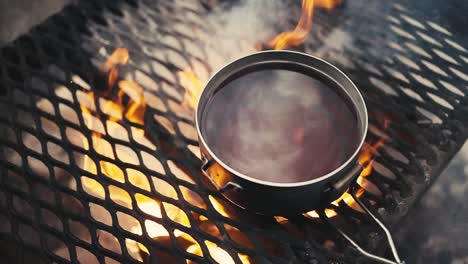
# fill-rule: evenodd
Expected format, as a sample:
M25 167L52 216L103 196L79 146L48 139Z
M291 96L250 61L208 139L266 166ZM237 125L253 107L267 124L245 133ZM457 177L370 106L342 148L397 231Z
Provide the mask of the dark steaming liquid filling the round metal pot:
M248 73L226 84L205 108L210 148L240 173L270 182L318 178L351 157L360 140L347 96L287 70Z

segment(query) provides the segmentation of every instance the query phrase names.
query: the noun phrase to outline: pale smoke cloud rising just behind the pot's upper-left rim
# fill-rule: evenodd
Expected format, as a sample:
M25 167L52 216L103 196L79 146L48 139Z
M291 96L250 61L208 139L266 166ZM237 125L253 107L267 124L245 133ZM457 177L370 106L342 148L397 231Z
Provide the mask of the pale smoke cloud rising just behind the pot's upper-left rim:
M287 20L289 11L285 1L269 0L241 0L212 10L205 21L212 28L202 38L207 44L209 65L216 71L236 58L255 52L257 44L279 33L275 28Z

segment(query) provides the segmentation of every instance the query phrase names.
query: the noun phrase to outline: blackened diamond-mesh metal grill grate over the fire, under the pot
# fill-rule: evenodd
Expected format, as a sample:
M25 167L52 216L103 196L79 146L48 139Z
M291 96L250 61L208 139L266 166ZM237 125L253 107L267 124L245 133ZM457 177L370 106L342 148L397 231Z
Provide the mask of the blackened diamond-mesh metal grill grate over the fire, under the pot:
M403 1L322 5L313 26L299 22L299 32L313 29L291 47L338 65L364 96L370 126L360 160L369 165L326 210L258 216L201 175L193 122L213 71L259 43L285 48L268 40L301 17L299 4L255 7L253 17L287 10L289 23L265 23L252 37L228 30L254 10L242 1L87 0L1 48L5 258L356 263L368 261L364 249L390 255L355 198L398 229L466 140L468 51L459 33Z

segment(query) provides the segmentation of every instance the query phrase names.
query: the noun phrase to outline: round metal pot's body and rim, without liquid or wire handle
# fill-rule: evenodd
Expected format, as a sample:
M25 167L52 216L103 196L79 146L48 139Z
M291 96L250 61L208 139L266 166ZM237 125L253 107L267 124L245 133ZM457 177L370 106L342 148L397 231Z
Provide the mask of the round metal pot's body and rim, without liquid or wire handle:
M200 128L207 103L224 85L242 75L265 69L283 69L319 77L341 89L357 111L359 144L334 171L304 182L276 183L244 175L217 157ZM196 110L196 127L203 159L202 171L234 204L265 215L297 215L329 204L359 176L358 154L367 133L367 109L359 90L339 69L319 58L293 51L264 51L238 59L217 72L206 84Z

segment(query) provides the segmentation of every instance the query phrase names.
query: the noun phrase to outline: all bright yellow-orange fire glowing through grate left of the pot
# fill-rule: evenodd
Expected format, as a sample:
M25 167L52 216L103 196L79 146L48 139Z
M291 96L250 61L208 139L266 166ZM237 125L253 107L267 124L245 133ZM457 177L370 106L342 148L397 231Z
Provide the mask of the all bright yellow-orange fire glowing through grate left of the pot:
M95 110L90 107L89 103L83 103L80 105L80 107L84 122L88 129L92 131L92 148L95 152L112 160L118 158L119 160L126 163L139 164L138 156L133 152L133 150L130 148L118 147L115 147L114 150L112 145L103 138L103 135L107 131L109 136L118 138L120 140L126 140L128 142L129 139L127 130L120 124L124 123L125 119L138 125L144 125L145 123L144 116L146 102L143 88L135 82L128 80L118 80L119 76L117 67L125 65L128 60L128 50L119 48L114 51L114 53L102 67L103 72L108 74L107 90L103 93L104 95L102 97L99 97L99 106L102 112L108 116L104 122L105 125L103 124L103 121L97 117L97 114L94 113ZM187 85L187 87L190 87L190 90L187 90L188 93L184 99L184 104L187 107L194 108L199 93L202 90L202 83L198 78L196 78L195 74L189 70L182 72L180 77L182 80L185 80L184 84ZM113 98L109 98L111 97L111 94L113 94L112 89L114 88L118 89L117 93ZM86 98L84 102L93 102L95 96L97 95L95 95L95 93L92 91L89 91L86 93L86 96L88 98ZM107 129L104 129L104 126ZM131 131L132 138L135 141L154 150L156 149L151 141L146 139L145 131L143 129L131 126ZM86 138L83 138L82 141L83 145L87 144ZM121 168L115 165L112 161L96 161L91 159L89 156L85 156L83 159L82 168L91 174L97 175L97 177L109 177L121 183L125 183L126 172L128 181L131 184L147 191L151 190L148 178L144 173L136 169ZM98 174L98 171L101 173ZM99 181L87 176L83 176L82 184L83 189L86 192L104 199L106 191L99 183ZM156 186L156 188L157 191L162 195L169 196L173 199L178 199L177 193L174 190L166 190L161 187L161 185ZM116 203L132 208L132 198L125 190L110 186L109 195ZM136 194L134 198L136 200L136 206L142 212L156 218L162 218L164 208L164 212L167 214L170 220L183 226L191 227L189 217L182 209L178 208L177 206L171 203L157 201L142 194ZM218 211L221 215L225 217L231 217L228 213L228 208L225 208L225 206L223 206L222 203L219 202L216 198L210 196L209 200L216 211ZM198 220L200 222L205 221L205 223L209 221L208 218L203 216L200 216ZM142 234L142 228L143 227L140 224L134 223L131 231L136 234ZM170 236L169 231L163 225L149 219L144 221L144 228L147 234L153 239L167 238ZM187 252L202 255L202 250L198 242L195 241L190 235L179 230L175 230L174 236L192 243L192 245L187 248ZM227 251L218 247L215 243L205 241L205 245L208 248L211 257L218 263L235 263L234 259L227 253ZM146 254L150 254L148 248L138 242L127 245L127 247L129 247L132 252L145 252ZM239 254L238 256L242 263L250 263L249 258L246 255ZM188 261L188 263L191 262Z

